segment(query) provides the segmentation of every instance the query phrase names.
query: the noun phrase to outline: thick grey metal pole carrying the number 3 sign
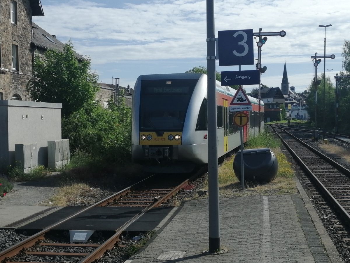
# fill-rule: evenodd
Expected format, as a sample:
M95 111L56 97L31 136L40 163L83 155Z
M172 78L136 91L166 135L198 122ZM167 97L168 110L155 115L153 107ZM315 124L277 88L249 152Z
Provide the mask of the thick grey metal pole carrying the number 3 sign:
M207 0L209 252L220 250L214 0Z

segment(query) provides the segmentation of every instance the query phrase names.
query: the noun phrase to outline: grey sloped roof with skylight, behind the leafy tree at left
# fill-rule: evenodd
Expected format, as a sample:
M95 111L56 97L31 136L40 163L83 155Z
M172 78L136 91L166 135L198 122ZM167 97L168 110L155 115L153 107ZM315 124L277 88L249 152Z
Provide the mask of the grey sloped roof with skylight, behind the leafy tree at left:
M31 39L31 42L43 49L56 50L58 52L63 52L64 48L64 44L59 41L56 36L50 35L36 23L33 23L33 38ZM74 52L74 56L80 61L86 60L76 52Z

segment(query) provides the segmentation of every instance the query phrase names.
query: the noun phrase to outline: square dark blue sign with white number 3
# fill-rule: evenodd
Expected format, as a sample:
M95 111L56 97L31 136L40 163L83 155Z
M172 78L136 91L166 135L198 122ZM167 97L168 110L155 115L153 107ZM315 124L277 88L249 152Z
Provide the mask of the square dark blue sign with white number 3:
M219 66L253 65L253 29L218 32Z

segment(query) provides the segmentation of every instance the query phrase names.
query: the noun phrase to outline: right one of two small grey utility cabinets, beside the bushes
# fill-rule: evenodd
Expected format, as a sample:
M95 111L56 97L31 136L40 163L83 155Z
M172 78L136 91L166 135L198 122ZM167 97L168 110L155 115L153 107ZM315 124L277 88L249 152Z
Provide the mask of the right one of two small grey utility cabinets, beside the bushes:
M69 139L47 142L48 167L57 169L70 161Z

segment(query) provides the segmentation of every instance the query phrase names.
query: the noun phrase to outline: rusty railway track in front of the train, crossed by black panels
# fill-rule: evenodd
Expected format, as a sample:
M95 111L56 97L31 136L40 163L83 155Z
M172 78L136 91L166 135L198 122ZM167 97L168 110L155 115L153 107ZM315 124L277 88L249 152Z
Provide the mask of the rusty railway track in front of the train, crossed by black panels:
M18 258L25 256L36 256L38 261L31 262L57 262L57 260L48 260L48 258L65 257L67 261L71 262L69 258L78 258L78 262L93 262L101 258L106 250L113 248L118 241L121 240L123 231L132 223L138 220L142 215L152 208L159 207L163 202L166 202L174 194L178 193L191 180L198 177L202 171L198 171L195 175L186 180L166 180L163 183L156 182L155 175L150 176L133 186L130 186L118 193L105 198L104 200L86 207L79 212L50 225L37 234L30 236L15 244L14 246L0 252L0 262L17 262L22 263ZM173 177L174 178L174 177ZM71 220L78 215L89 211L94 207L100 206L114 206L114 207L141 207L142 210L135 214L130 220L124 223L121 227L115 230L115 234L109 237L105 242L99 243L71 243L71 242L43 242L50 231L68 220ZM76 252L76 248L84 252ZM22 255L22 256L20 256ZM28 261L26 261L28 262ZM76 261L77 262L77 261Z

